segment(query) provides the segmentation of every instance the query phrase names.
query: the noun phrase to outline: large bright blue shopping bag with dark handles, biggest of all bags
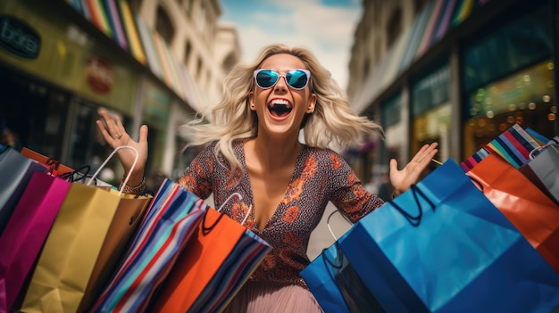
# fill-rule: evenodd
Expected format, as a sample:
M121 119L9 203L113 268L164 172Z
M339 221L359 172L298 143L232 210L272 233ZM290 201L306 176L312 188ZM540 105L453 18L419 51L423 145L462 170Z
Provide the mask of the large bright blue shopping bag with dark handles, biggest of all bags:
M363 217L340 246L388 312L559 304L559 275L452 160Z

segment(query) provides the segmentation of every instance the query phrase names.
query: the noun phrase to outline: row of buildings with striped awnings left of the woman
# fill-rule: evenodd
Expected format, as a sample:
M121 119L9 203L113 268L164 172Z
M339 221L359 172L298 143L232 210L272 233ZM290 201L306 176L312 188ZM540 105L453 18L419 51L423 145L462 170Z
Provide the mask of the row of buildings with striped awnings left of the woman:
M97 111L138 139L149 127L147 173L177 177L192 153L179 126L211 108L239 59L217 0L38 0L0 3L0 127L13 145L95 169L110 154ZM4 140L3 140L4 141ZM107 180L121 167L108 165Z

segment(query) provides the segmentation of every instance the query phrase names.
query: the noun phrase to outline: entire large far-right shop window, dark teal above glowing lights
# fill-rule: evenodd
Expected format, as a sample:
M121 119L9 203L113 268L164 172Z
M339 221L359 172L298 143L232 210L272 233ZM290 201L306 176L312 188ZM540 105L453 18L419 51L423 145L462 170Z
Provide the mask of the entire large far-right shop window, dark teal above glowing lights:
M553 137L556 99L551 21L545 6L463 51L463 158L513 124Z

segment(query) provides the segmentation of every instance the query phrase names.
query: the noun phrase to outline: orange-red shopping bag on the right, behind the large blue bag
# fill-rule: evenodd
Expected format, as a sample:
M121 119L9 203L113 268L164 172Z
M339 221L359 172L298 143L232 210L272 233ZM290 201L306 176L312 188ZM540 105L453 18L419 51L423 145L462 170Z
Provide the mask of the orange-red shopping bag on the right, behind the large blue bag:
M466 175L559 273L559 206L495 155L488 155Z

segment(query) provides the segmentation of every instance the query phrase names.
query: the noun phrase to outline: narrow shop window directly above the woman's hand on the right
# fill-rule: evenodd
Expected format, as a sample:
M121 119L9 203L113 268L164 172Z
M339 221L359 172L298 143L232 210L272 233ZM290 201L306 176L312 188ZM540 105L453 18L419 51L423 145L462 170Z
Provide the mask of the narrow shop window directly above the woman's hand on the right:
M448 64L419 78L412 85L411 151L423 144L438 142L438 160L449 157L450 144L450 68Z

